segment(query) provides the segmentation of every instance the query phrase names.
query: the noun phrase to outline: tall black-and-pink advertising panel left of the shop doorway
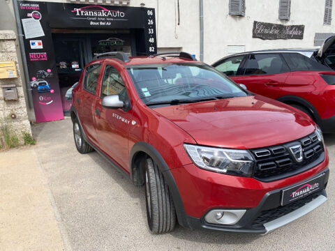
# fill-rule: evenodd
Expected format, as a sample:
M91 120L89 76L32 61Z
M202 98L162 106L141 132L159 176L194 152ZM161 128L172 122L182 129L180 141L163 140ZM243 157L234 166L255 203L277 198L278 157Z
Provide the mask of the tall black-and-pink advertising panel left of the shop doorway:
M36 122L64 119L58 75L52 74L57 71L47 3L18 3ZM37 37L38 40L30 40ZM46 78L40 78L42 72Z

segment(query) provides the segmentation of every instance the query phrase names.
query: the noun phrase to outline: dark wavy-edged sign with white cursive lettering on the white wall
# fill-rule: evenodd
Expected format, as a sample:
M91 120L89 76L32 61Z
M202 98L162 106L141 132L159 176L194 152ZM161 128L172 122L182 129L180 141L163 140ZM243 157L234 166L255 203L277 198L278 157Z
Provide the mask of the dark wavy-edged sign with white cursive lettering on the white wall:
M270 24L253 22L253 38L261 39L303 39L304 25Z

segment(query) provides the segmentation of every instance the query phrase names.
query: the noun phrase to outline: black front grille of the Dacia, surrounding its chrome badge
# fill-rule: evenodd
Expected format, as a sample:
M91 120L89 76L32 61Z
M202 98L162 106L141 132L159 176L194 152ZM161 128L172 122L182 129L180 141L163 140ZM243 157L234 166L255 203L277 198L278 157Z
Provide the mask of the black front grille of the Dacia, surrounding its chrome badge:
M290 150L299 145L302 150L301 162L297 161L297 156ZM323 144L315 132L287 144L251 149L256 160L253 176L260 181L269 182L304 172L322 162L325 158L324 152Z

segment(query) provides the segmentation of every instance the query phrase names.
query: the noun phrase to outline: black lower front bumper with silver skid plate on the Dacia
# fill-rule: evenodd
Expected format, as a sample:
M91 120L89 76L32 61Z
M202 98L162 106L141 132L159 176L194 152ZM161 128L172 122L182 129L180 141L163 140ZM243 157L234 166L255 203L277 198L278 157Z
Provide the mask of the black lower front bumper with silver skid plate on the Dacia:
M321 172L325 173L325 187L329 178L329 169ZM317 174L316 176L319 176ZM311 177L313 178L313 177ZM309 178L308 178L309 179ZM285 188L267 192L262 198L260 204L255 208L247 209L244 216L235 225L224 226L209 224L202 218L193 218L188 216L188 227L191 229L210 229L217 231L234 231L255 234L267 234L279 227L301 218L310 213L318 206L327 201L325 189L312 193L307 197L292 202L291 204L281 206L281 191ZM204 214L206 215L206 214Z

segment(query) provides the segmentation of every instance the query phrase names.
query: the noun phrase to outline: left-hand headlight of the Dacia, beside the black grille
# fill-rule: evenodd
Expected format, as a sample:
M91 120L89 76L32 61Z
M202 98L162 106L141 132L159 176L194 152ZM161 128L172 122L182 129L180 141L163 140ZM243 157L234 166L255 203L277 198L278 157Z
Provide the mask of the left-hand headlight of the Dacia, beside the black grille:
M254 160L246 150L218 149L184 144L194 164L202 169L237 176L251 176Z

